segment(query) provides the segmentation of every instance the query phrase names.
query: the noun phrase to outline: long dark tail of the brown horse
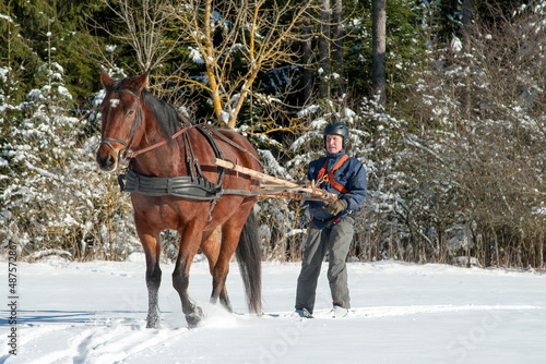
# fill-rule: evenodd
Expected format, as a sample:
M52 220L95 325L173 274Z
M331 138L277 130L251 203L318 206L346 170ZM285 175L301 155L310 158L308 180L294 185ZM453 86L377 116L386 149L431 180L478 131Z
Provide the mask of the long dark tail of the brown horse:
M253 209L250 210L242 227L235 254L245 283L249 311L260 315L262 313L262 254Z

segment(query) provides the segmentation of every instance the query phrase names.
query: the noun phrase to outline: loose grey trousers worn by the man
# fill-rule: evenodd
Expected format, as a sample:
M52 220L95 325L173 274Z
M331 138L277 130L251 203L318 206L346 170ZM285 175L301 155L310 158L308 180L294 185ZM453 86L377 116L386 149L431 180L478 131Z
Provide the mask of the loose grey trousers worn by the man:
M317 282L327 252L329 252L328 281L332 302L344 308L351 308L345 259L353 241L354 223L355 220L351 216L346 216L331 230L321 229L314 222L309 223L296 290L296 308L306 308L312 313Z

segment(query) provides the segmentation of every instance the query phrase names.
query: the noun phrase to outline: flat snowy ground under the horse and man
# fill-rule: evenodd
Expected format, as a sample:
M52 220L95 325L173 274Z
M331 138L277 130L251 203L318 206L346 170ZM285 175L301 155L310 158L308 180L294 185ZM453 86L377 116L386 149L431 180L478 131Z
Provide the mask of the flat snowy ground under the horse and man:
M207 303L211 279L199 262L190 292L207 317L190 330L170 284L173 266L162 268L156 330L144 327L143 263L19 263L16 355L9 354L4 304L0 363L546 362L544 274L352 263L351 317L329 317L323 269L316 318L300 320L290 317L299 264L263 265L264 315L257 317L247 312L236 264L228 289L237 314L228 314ZM0 280L8 281L7 268Z

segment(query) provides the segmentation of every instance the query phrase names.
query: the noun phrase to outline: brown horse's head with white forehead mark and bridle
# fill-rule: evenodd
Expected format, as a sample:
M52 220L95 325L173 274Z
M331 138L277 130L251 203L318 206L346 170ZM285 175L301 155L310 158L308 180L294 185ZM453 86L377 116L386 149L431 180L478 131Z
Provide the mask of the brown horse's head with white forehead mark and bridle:
M106 95L100 106L103 123L96 160L104 171L115 171L120 155L142 134L139 128L142 123L141 94L147 85L147 76L146 72L135 78L115 81L100 71Z

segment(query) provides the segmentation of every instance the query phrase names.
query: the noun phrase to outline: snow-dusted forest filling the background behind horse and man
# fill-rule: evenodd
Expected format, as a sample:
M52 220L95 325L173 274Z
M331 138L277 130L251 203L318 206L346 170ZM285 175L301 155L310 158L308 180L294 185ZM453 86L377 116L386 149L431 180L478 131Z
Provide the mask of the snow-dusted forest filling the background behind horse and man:
M21 259L141 251L95 162L103 69L150 71L287 180L345 123L368 172L352 260L545 268L546 0L5 0L0 45L0 250ZM256 210L263 259L298 260L301 203Z

